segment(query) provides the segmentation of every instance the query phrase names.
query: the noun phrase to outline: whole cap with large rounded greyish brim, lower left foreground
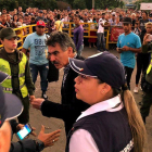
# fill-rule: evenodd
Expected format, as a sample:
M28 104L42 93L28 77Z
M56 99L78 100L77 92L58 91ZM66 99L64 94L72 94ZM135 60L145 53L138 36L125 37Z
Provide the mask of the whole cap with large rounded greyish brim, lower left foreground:
M17 117L23 112L21 100L11 93L3 93L0 87L0 127L4 121Z

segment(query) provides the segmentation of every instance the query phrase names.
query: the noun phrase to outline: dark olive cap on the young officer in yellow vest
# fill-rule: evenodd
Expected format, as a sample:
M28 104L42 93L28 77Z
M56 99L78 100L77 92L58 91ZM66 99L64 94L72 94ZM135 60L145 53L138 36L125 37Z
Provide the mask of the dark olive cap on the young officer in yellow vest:
M16 33L11 27L2 28L0 30L0 38L1 39L4 39L4 38L5 39L11 39L13 37L17 37L17 36L16 36Z

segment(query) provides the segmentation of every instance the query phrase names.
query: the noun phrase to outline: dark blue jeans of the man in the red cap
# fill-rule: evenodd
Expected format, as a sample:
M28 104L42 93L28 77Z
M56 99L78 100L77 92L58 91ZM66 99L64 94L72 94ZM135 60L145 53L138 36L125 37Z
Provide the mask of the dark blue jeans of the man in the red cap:
M42 65L36 65L36 64L29 63L29 67L30 67L30 73L31 73L34 84L37 80L37 76L39 73L40 79L41 79L40 81L41 90L47 91L47 88L48 88L47 76L48 76L48 71L49 71L49 63L42 64Z

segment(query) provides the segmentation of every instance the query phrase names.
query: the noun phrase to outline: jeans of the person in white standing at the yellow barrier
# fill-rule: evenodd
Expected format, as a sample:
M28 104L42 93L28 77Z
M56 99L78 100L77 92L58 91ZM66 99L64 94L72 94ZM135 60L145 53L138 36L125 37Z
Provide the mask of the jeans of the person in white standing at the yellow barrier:
M102 43L102 47L103 47L103 51L105 51L105 38L104 38L104 33L97 33L97 37L98 37L98 40L97 40L97 49L99 51L101 51L101 43Z

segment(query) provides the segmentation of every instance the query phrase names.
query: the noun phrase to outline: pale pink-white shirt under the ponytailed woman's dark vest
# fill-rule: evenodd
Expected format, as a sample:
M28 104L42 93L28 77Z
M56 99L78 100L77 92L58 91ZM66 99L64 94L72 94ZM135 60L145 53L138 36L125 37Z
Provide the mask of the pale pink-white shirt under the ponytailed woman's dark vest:
M118 103L121 103L121 105L113 109ZM124 107L124 104L121 101L121 96L116 96L112 99L93 104L88 110L83 112L81 115L77 118L77 121L85 116L88 116L98 112L102 112L102 111L116 112L116 111L121 111L123 107ZM71 137L69 152L99 152L99 149L92 136L90 135L90 132L88 132L85 129L78 129Z

